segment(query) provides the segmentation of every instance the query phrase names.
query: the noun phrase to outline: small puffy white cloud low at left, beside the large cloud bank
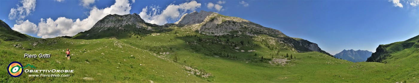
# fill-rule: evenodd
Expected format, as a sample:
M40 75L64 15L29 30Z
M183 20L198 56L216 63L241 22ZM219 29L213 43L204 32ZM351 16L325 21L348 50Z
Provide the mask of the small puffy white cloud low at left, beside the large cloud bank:
M35 34L38 31L36 24L29 22L29 20L19 20L18 24L15 24L12 29L23 34Z

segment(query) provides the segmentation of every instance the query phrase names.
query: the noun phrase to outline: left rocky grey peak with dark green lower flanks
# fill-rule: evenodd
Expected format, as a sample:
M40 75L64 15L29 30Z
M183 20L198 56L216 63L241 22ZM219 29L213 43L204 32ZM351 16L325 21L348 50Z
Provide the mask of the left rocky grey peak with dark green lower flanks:
M130 31L153 30L153 27L163 27L150 24L141 19L140 15L106 15L96 22L93 27L85 32L76 34L72 39L100 39L105 37L127 37Z

